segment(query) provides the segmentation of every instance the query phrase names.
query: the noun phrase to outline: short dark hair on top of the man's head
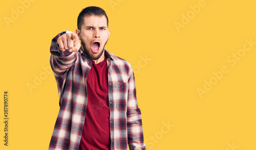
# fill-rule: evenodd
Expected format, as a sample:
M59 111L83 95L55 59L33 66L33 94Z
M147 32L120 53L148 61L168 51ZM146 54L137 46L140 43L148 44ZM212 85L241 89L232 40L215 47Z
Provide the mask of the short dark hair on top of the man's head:
M91 15L96 15L96 16L104 15L106 17L106 24L109 27L109 18L108 18L108 16L106 16L106 12L102 8L95 7L95 6L90 6L90 7L84 8L78 15L77 28L79 30L81 30L81 27L84 23L84 17L85 16L91 16Z

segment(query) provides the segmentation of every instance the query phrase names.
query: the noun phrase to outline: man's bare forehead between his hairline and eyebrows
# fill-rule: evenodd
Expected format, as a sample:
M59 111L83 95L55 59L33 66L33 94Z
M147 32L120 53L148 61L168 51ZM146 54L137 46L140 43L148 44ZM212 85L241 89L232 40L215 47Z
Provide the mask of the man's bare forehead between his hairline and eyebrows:
M107 25L107 20L104 15L101 16L96 16L96 15L86 15L84 16L84 22L82 26L105 26L108 27Z

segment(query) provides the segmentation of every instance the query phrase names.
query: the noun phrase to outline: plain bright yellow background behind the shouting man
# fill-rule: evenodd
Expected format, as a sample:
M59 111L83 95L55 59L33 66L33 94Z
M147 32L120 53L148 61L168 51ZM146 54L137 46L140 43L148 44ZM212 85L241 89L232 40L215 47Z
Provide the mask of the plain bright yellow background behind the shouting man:
M34 1L24 12L20 1L1 4L0 149L48 149L59 105L54 75L42 67L50 67L51 39L64 30L74 32L87 6L106 11L111 30L106 48L136 68L147 149L256 148L256 45L240 50L245 39L256 41L255 1ZM193 15L199 3L204 7ZM5 18L12 19L17 8L22 13L7 24ZM186 25L177 30L175 23L182 20ZM236 65L228 62L238 52L243 56ZM197 89L204 90L205 80L216 78L212 72L222 66L228 72L212 80L217 83L201 98ZM40 75L44 80L35 85ZM30 92L27 84L36 88ZM8 147L3 141L5 90Z

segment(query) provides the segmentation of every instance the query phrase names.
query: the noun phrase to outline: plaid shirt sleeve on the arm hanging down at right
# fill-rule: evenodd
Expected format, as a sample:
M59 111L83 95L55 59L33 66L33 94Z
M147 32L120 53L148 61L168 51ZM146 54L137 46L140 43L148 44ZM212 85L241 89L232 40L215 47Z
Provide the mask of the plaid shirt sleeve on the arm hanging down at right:
M136 97L135 78L129 63L128 99L127 99L127 138L130 149L146 149L144 144L141 112Z

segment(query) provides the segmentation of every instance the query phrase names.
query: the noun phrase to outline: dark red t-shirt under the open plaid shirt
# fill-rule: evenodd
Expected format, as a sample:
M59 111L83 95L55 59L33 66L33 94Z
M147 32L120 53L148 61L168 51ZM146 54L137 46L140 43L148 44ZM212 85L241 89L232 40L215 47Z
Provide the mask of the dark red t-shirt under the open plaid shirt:
M106 58L87 75L87 112L79 150L110 149L110 110Z

